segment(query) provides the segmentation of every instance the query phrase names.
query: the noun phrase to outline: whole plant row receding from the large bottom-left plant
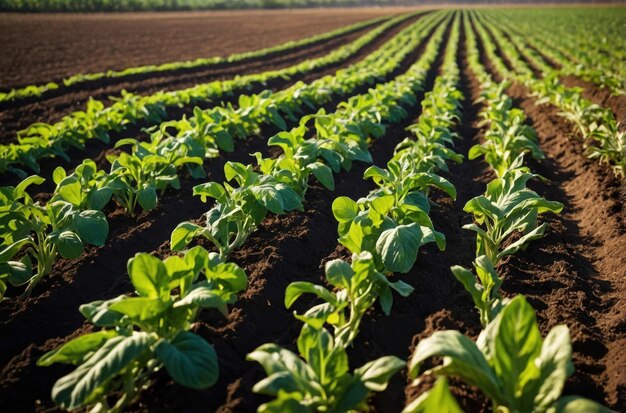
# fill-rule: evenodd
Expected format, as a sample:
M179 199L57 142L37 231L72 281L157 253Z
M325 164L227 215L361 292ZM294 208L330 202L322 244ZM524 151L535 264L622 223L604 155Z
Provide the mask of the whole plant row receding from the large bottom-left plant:
M66 409L121 411L162 368L178 384L198 389L213 385L219 374L217 356L189 329L200 309L225 313L246 287L243 271L226 261L234 242L249 236L270 212L302 209L311 176L332 189L333 170L349 169L354 161L371 162L368 140L384 134L385 122L407 116L402 106L415 103L444 31L441 26L421 59L395 82L351 98L336 113L318 114L316 138L305 139L312 118L305 117L297 128L269 140L283 155L266 159L255 154L258 172L251 165L227 163L226 178L236 181L237 188L215 182L194 188L203 198L215 198L215 206L205 214L205 227L179 225L172 233L172 249L182 250L194 237L204 236L219 253L196 246L163 261L148 254L131 259L128 271L138 296L81 306L87 320L102 330L71 340L39 360L39 365L77 366L55 383L53 401Z

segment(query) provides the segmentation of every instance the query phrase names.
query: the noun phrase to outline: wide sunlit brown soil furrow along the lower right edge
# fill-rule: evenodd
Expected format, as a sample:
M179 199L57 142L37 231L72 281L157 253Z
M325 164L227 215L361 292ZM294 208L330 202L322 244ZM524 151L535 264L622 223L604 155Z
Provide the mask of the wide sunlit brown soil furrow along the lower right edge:
M580 138L556 107L537 106L519 84L507 93L537 130L547 156L529 162L533 172L547 178L531 186L565 208L546 218L550 231L545 238L505 260L502 288L529 298L543 334L556 324L570 328L576 370L566 394L619 409L626 402L624 183L586 157Z

